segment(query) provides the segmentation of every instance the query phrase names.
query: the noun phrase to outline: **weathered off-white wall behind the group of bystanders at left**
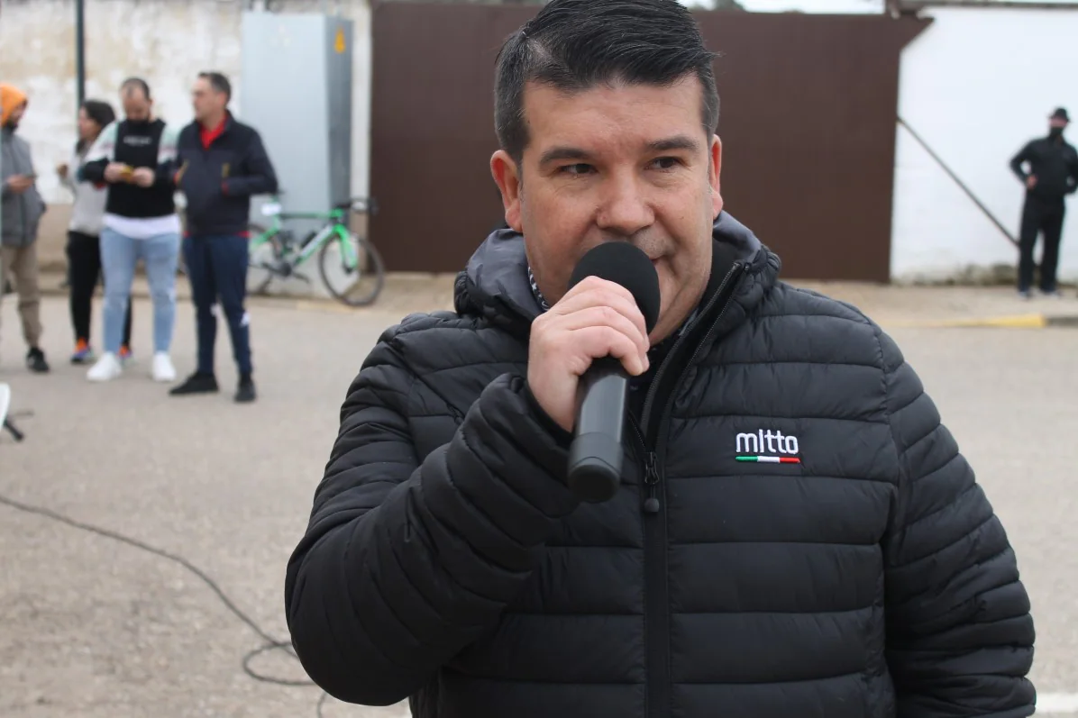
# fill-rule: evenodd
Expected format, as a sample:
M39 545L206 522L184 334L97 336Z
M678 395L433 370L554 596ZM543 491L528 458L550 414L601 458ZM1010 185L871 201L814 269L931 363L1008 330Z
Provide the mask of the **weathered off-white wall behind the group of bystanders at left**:
M232 109L243 119L239 24L248 0L86 0L86 97L120 110L129 75L150 83L158 116L191 122L190 88L201 70L233 81ZM367 0L275 0L280 12L340 12L353 36L353 194L370 187L371 10ZM75 140L74 4L71 0L4 0L0 11L0 79L24 88L30 103L19 133L31 143L39 188L51 209L42 227L46 264L63 263L70 194L54 167ZM281 87L281 102L289 101ZM299 130L300 128L298 128ZM281 178L282 184L289 180ZM294 181L294 180L292 180ZM321 208L315 208L321 209Z

